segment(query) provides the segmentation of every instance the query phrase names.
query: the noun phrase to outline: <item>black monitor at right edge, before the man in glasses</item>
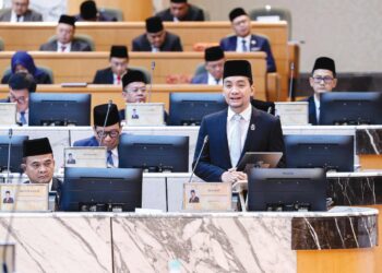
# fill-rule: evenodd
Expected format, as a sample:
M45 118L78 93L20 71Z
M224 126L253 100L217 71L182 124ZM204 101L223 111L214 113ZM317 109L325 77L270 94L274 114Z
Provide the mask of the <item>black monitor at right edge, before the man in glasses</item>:
M320 124L382 124L382 92L327 92L320 102Z

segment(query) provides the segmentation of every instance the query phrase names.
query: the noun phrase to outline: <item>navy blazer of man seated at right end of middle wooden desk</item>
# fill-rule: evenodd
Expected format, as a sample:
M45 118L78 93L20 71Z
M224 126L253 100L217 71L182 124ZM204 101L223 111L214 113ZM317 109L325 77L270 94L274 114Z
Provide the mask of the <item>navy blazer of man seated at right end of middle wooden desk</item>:
M236 35L223 38L220 47L224 51L236 51L238 37ZM266 54L266 70L267 72L276 72L275 59L272 55L270 41L261 36L251 35L250 51L264 51Z

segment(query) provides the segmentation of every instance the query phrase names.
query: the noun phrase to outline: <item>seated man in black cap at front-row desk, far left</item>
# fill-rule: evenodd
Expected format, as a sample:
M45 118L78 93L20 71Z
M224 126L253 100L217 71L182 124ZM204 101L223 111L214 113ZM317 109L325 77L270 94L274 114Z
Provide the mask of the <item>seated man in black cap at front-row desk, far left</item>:
M21 166L29 178L26 183L49 183L49 191L59 191L62 181L53 178L55 158L49 139L25 140Z

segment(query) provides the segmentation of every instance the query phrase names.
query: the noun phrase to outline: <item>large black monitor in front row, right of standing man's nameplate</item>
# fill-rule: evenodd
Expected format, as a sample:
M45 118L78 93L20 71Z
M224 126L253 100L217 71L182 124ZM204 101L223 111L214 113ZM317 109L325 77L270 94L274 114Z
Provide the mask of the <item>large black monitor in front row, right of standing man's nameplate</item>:
M326 211L326 173L322 168L252 168L249 211Z

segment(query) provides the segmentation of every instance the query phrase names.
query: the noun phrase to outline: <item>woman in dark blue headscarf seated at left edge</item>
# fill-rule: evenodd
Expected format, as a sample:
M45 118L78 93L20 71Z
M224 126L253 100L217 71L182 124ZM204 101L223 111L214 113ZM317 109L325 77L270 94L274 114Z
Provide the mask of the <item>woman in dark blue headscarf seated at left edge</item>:
M25 51L17 51L12 56L12 72L1 79L2 84L7 84L12 74L17 72L27 72L32 74L37 84L51 84L49 75L39 68L36 68L32 56Z

